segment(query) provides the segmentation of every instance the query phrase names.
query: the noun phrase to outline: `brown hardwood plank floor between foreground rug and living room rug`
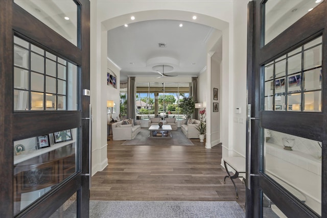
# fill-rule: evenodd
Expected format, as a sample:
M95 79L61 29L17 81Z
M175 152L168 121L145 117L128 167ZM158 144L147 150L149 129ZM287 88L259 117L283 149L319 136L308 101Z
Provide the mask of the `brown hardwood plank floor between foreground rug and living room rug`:
M245 185L236 179L239 199L221 164L221 146L122 146L108 141L108 166L92 177L90 200L237 201L245 208Z

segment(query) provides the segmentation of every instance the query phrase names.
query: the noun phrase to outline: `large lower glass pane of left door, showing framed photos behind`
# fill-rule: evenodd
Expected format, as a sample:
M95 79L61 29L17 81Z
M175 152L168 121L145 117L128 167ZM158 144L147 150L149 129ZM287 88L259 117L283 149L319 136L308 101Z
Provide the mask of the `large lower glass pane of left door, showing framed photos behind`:
M14 141L15 214L78 171L77 138L79 128Z

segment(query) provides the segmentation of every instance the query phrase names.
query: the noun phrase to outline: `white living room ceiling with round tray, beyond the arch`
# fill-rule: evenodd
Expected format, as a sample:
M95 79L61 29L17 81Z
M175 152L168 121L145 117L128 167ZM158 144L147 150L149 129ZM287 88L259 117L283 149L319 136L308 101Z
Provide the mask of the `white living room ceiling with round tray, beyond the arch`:
M121 68L121 82L128 76L159 77L152 69L158 64L174 67L165 69L167 75L197 76L206 66L206 42L214 30L179 20L130 23L108 31L108 58ZM162 48L158 43L167 44Z

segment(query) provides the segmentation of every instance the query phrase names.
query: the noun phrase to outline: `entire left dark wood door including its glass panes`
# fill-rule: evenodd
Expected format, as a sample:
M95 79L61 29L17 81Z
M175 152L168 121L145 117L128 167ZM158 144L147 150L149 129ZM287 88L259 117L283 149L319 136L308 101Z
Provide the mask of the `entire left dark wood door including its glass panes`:
M34 5L33 8L30 7L31 5L25 7L25 1L4 0L1 2L0 163L2 167L0 171L2 176L0 177L0 202L2 203L0 217L50 217L72 196L75 198L73 204L76 208L75 211L72 211L72 215L88 217L89 214L90 3L88 0L71 0L71 2L76 5L76 17L73 17L76 23L76 35L74 36L76 43L67 40L64 31L58 34L58 31L54 30L62 29L63 27L60 25L49 26L53 20L49 14L46 14L46 11L42 11L39 5ZM44 2L39 3L42 5ZM56 10L59 8L55 7L57 3L56 1L47 1L45 7L46 4L52 4L48 5L48 10ZM31 8L37 13L43 13L41 18L47 19L48 25L40 21L40 17L36 18L32 15L29 12ZM62 15L58 13L58 16ZM24 47L19 43L27 45ZM33 47L36 50L33 51ZM26 56L30 57L22 59L25 59L27 67L15 64L16 60L14 59L19 53L15 49L24 50ZM39 51L42 51L41 55L39 55ZM53 65L54 75L38 72L39 65L34 66L33 69L32 61L37 61L36 59L40 57L44 61L44 65L42 65L44 70L47 70L52 63L55 64ZM74 88L67 88L72 83L71 78L66 77L68 71L71 70L69 68L75 70ZM20 80L25 78L22 75L27 75L25 87L16 85L17 75L14 72L16 69L19 69ZM63 76L59 75L59 72L62 72ZM42 89L38 93L33 90L34 85L31 82L37 81L36 78L42 78L39 81L42 84L44 82L44 85L39 86L44 90ZM52 91L47 88L48 85L55 90L52 94L49 94ZM70 92L74 92L74 104L69 99ZM19 106L17 103L16 93L25 93L27 98L23 105L23 108L26 108L25 111L17 109L21 105ZM42 96L40 99L42 106L36 106L35 93ZM48 98L52 98L53 101ZM50 102L51 104L48 106ZM55 137L52 139L51 136L54 136L56 132L62 133L63 130L72 131L74 140L72 140L72 132L69 132L67 138L64 138L67 141L61 143L62 147L59 148L58 144L60 143L55 144L52 141L55 141ZM46 143L49 143L49 148L42 148L44 144L40 144L39 140L43 139L38 138L39 136L48 137L49 140ZM34 158L28 160L22 158L19 163L15 163L18 154L17 151L14 151L14 144L28 138L33 140L36 138L37 147L39 147L39 150L33 148L33 151L30 152L41 152L42 154L35 155ZM34 142L36 144L36 141ZM58 149L55 149L56 146ZM35 179L36 176L38 179ZM22 199L21 194L40 190L45 186L48 189L40 198L24 208L18 207L18 211L14 210L17 201L20 203ZM63 210L59 212L63 212Z

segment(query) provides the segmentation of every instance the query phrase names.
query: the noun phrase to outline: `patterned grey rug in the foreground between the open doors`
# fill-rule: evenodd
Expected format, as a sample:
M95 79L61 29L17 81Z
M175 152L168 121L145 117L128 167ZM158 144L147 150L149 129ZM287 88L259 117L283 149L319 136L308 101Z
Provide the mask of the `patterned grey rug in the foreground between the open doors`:
M90 201L90 217L114 218L242 218L235 201Z

